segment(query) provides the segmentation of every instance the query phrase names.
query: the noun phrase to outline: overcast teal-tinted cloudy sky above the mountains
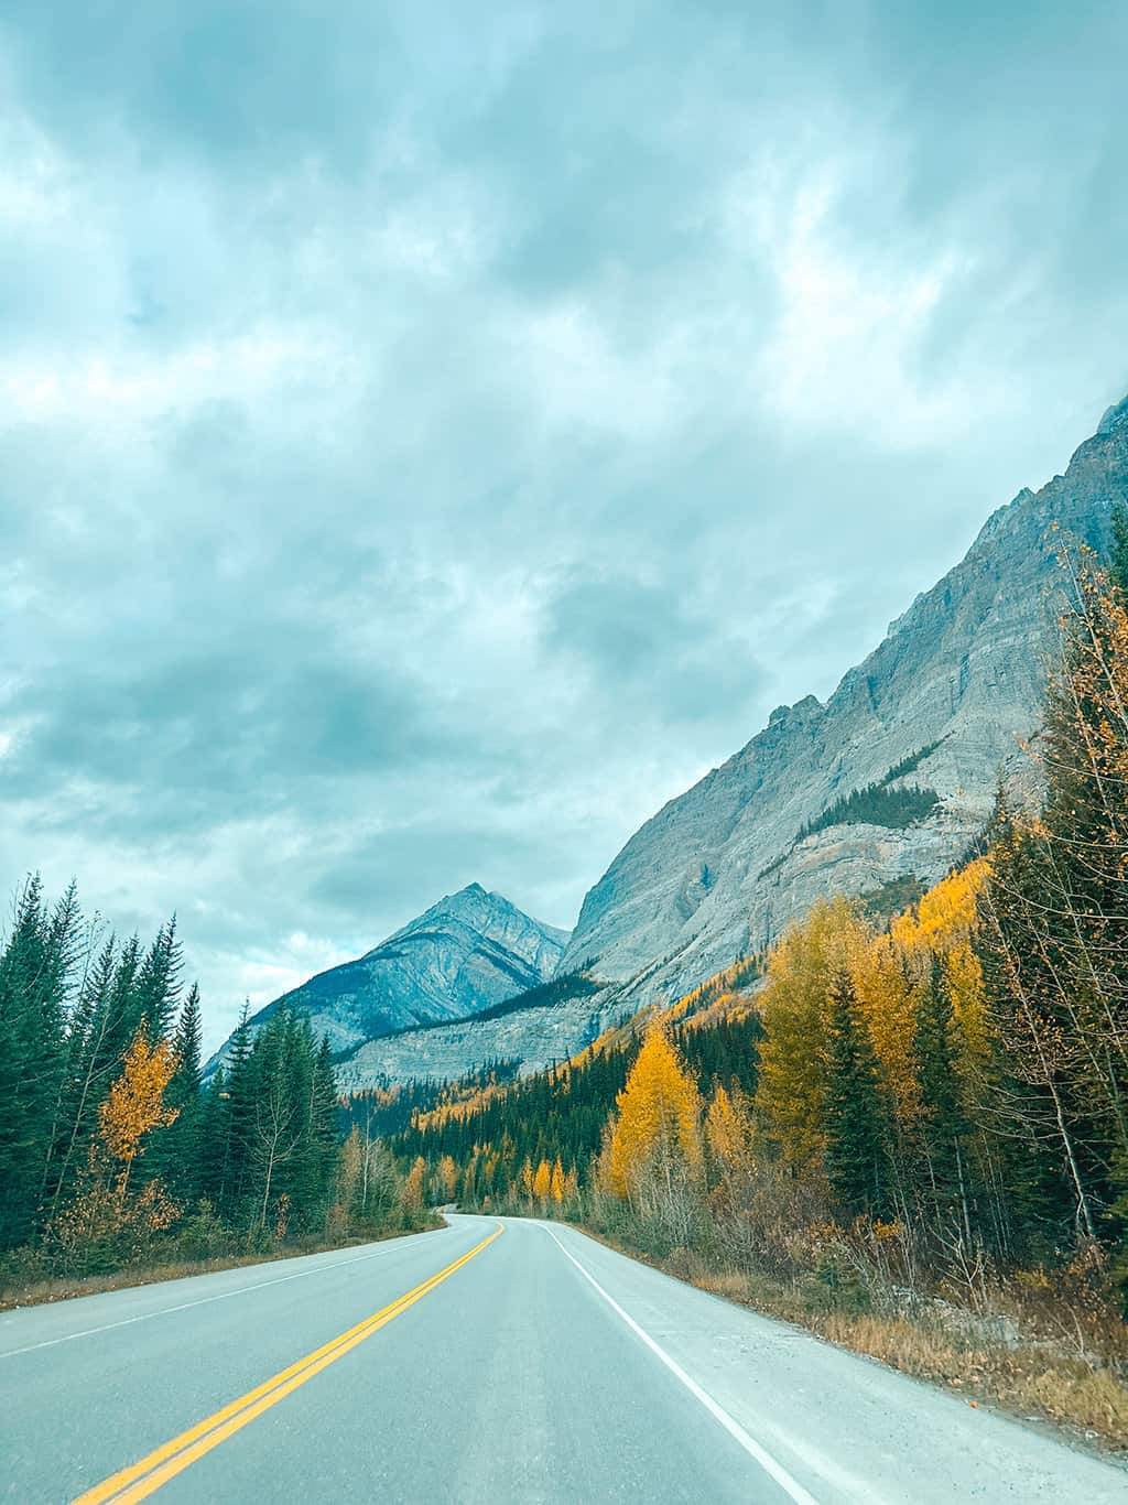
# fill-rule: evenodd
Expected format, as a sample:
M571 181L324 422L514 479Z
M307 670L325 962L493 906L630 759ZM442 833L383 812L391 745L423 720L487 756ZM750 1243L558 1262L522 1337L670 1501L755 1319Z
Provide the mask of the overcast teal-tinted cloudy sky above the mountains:
M0 8L0 892L553 924L1128 393L1128 8Z

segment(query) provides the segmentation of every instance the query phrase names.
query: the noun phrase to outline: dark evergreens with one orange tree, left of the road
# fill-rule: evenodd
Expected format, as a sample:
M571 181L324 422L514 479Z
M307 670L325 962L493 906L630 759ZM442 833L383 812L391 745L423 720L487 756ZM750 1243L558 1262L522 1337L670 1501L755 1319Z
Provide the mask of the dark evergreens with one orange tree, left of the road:
M205 1082L174 924L147 948L30 879L0 950L0 1305L432 1227L340 1127L326 1041L280 1010Z

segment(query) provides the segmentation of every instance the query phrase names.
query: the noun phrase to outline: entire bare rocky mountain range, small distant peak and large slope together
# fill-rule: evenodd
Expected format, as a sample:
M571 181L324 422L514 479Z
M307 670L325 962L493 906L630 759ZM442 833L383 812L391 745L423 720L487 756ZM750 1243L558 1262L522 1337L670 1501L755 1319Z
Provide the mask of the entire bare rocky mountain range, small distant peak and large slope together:
M1033 792L1056 555L1065 537L1104 549L1114 500L1128 503L1128 399L1063 476L988 519L826 704L775 710L648 820L570 941L472 885L287 995L329 1029L341 1085L490 1060L534 1070L761 950L820 895L901 908L976 841L1000 778ZM559 986L537 987L549 975Z

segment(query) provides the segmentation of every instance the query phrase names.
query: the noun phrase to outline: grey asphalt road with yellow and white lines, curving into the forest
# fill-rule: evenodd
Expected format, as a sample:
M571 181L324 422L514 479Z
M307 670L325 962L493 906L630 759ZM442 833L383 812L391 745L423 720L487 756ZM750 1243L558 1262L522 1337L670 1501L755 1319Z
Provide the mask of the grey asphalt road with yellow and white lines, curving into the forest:
M0 1496L1128 1500L1042 1431L572 1230L498 1228L0 1314Z

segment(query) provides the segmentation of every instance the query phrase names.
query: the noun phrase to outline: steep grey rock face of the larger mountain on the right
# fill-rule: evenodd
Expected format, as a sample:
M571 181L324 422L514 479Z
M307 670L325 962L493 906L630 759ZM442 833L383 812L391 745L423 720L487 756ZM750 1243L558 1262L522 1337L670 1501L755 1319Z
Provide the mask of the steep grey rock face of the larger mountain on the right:
M1065 476L988 519L826 704L809 695L775 710L630 838L584 900L561 971L591 957L602 977L626 978L662 957L654 983L677 992L764 947L823 894L865 894L910 874L929 882L958 861L1000 775L1030 777L1021 743L1036 733L1056 643L1062 534L1104 548L1114 500L1128 501L1128 399ZM938 798L899 829L875 823L874 801L826 820L872 784ZM895 822L887 804L878 817ZM811 823L820 829L800 838Z

